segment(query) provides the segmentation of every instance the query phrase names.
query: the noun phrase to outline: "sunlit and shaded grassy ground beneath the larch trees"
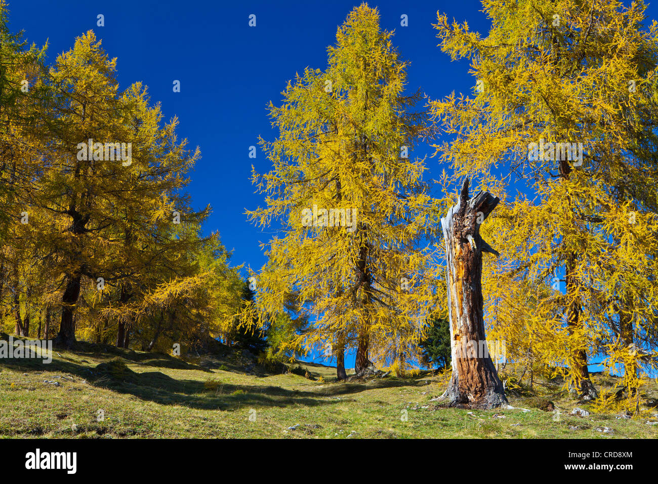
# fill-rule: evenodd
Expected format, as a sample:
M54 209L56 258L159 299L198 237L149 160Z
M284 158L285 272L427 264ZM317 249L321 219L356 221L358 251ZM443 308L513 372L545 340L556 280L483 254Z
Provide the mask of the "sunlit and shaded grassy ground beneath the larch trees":
M445 375L338 382L335 367L299 362L313 380L265 373L220 347L181 359L82 343L53 350L49 364L0 360L0 437L658 438L655 380L642 390L640 416L627 419L570 415L588 404L555 382L508 391L514 410L470 411L432 401ZM501 375L513 376L510 365ZM604 391L616 381L593 379ZM559 414L541 409L546 400Z

